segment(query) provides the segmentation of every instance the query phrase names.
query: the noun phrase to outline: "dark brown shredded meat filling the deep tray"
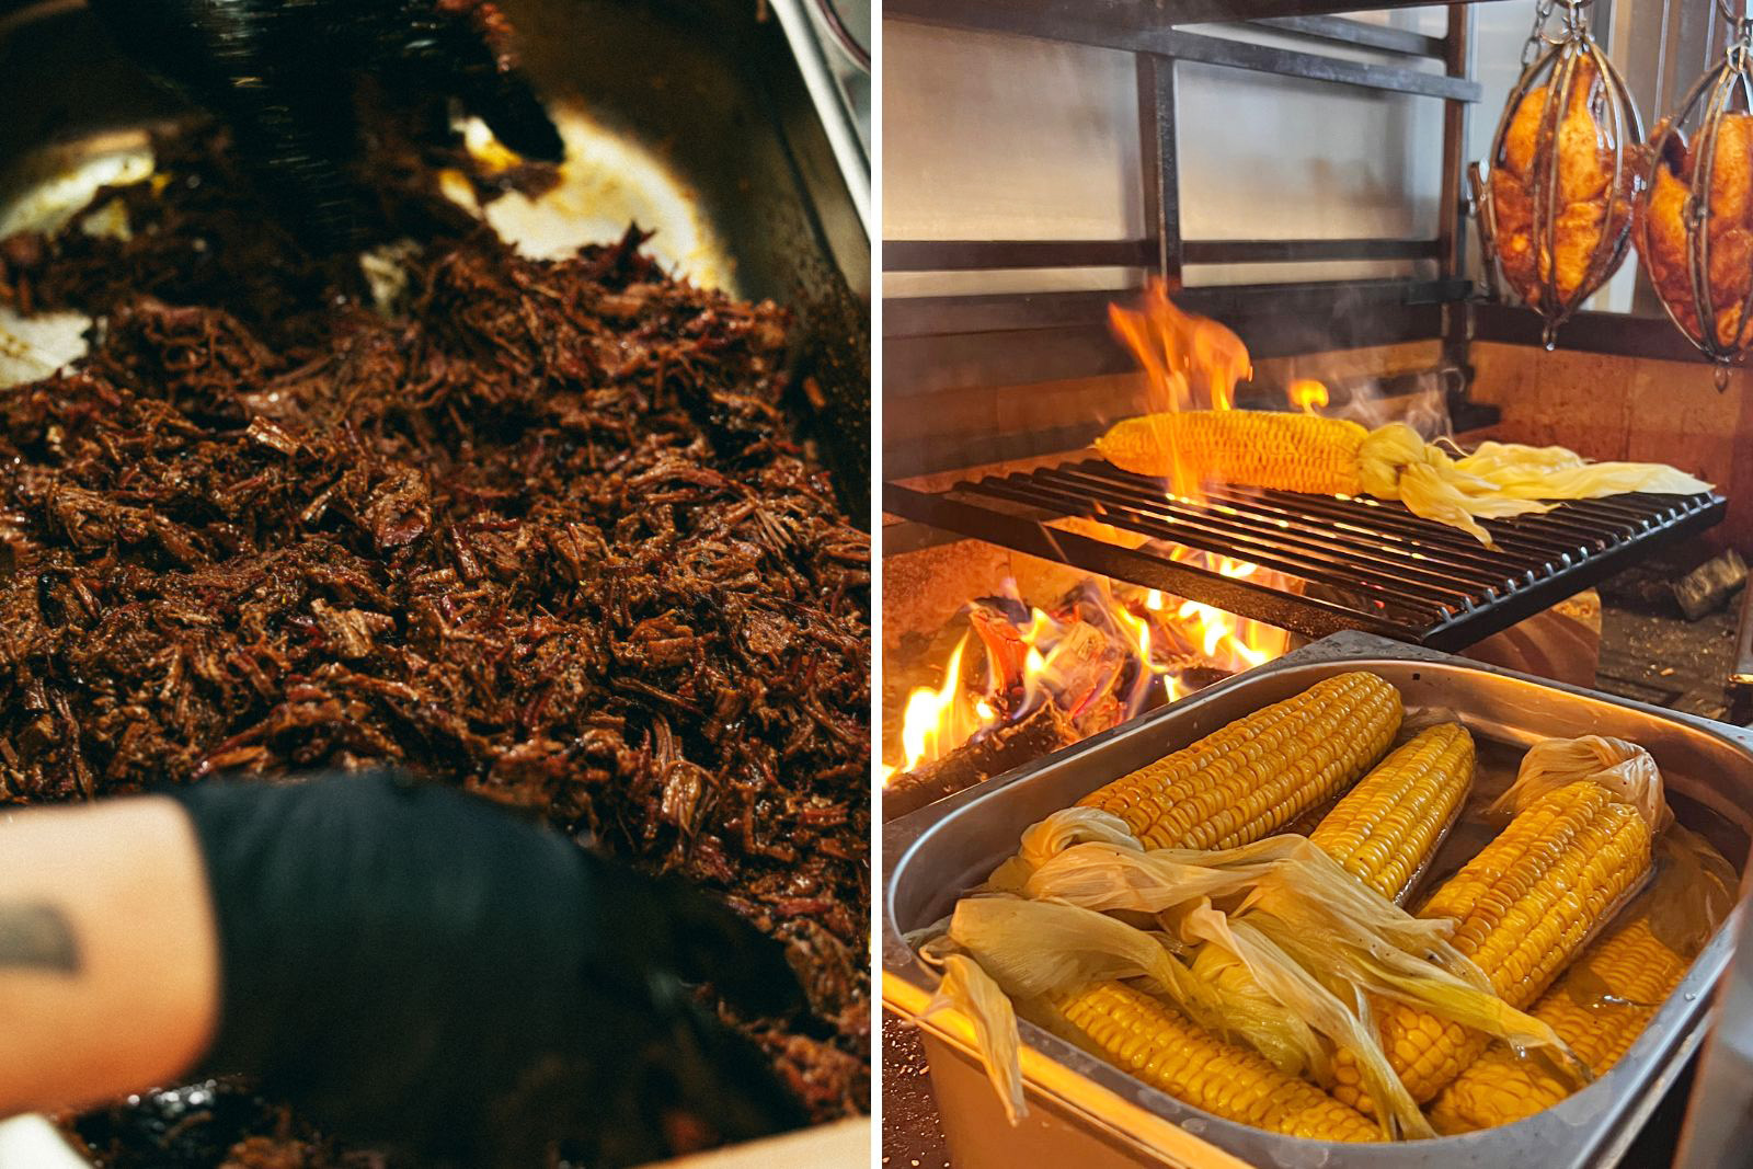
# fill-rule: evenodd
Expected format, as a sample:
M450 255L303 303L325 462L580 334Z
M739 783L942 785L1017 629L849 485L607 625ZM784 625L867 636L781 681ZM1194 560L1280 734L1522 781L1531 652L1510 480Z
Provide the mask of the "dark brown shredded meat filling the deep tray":
M785 314L636 230L521 259L408 168L386 319L219 137L158 156L93 202L126 242L0 242L0 303L102 319L0 394L0 804L391 764L540 810L785 941L813 1018L738 1022L861 1109L869 554L792 438Z

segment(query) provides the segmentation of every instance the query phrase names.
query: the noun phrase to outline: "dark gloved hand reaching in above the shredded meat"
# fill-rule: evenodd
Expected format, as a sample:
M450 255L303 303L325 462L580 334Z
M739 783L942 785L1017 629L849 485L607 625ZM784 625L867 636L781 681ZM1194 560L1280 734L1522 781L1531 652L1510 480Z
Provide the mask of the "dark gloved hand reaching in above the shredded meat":
M307 242L356 242L359 75L386 93L454 96L526 158L563 145L512 68L482 0L89 0L117 44L233 126L263 191ZM493 40L494 44L489 44Z

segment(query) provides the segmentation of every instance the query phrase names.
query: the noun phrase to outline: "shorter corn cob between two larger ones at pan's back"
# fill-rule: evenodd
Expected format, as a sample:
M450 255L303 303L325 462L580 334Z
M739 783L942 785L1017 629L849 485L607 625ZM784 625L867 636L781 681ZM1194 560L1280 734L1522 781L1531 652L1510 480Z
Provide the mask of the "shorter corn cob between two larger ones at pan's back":
M1430 861L1471 785L1473 736L1458 722L1434 726L1376 764L1309 840L1397 901Z

